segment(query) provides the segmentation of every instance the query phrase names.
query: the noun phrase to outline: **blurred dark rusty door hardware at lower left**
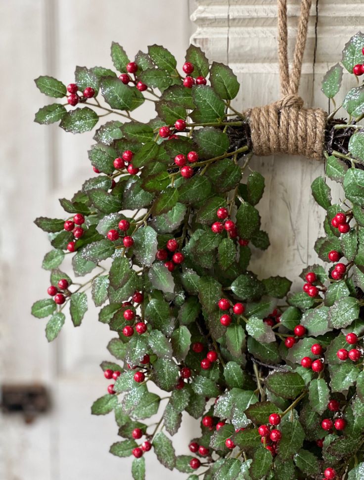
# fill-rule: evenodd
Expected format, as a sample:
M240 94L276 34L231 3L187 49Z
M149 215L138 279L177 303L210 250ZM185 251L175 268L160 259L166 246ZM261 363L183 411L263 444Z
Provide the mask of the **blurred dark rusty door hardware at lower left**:
M1 409L6 415L21 413L27 423L45 413L50 406L46 387L37 384L1 386Z

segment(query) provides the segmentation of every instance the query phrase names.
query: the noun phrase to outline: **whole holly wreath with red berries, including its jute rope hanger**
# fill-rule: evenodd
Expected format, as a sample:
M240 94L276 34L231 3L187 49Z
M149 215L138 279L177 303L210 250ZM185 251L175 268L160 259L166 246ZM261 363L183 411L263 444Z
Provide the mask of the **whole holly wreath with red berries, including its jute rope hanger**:
M67 218L36 220L53 249L43 261L49 298L32 313L50 316L52 341L66 306L81 324L91 287L117 361L101 363L110 385L92 413L114 412L123 439L110 452L134 455L135 480L144 479L153 452L189 480L364 479L364 35L346 44L342 65L323 80L334 112L304 110L297 87L310 1L302 5L288 76L285 3L278 3L282 100L245 114L231 106L239 89L232 71L210 66L192 45L183 76L162 46L130 61L113 43L117 74L77 67L68 87L36 80L46 95L66 99L41 108L38 123L60 121L81 133L103 116L116 118L94 134L97 175L60 200ZM343 67L358 85L336 108ZM133 117L144 102L157 112L147 124ZM334 118L341 108L347 121ZM251 254L269 247L256 209L264 178L249 163L253 153L282 151L323 156L327 177L343 188L332 204L324 179L312 183L326 211L315 244L322 263L305 268L296 293L287 278L258 279L249 270ZM66 256L70 275L60 269ZM151 384L166 393L152 393ZM186 445L189 454L176 455L171 436L183 411L200 422L201 435Z

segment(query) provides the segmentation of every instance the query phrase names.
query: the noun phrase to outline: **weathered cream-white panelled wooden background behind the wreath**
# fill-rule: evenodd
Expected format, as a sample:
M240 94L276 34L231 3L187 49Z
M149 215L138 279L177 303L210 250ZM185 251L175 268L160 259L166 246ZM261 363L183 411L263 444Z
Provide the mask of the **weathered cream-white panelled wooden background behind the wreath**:
M299 5L288 1L290 51ZM46 322L30 314L32 303L46 297L49 281L41 269L49 244L33 220L62 218L57 199L72 196L93 175L87 158L91 133L72 135L33 123L49 101L33 79L53 75L68 84L75 65L111 67L112 41L130 56L163 44L181 65L192 36L210 60L229 63L238 75L237 108L262 105L279 94L276 0L0 0L0 22L0 384L44 384L52 402L50 412L31 424L21 415L0 416L0 479L129 480L130 460L108 453L118 440L112 415L90 415L92 401L107 385L98 364L110 359L109 330L91 309L80 329L68 318L48 345ZM307 104L328 108L322 77L363 25L363 1L313 0L300 87ZM352 84L346 74L344 87ZM313 245L323 219L310 184L324 166L286 157L254 159L252 166L266 176L259 208L271 238L270 249L254 253L252 269L262 276L287 275L302 288L297 276L317 260ZM197 432L186 416L177 453L187 453ZM146 461L148 480L185 478L164 470L152 452Z

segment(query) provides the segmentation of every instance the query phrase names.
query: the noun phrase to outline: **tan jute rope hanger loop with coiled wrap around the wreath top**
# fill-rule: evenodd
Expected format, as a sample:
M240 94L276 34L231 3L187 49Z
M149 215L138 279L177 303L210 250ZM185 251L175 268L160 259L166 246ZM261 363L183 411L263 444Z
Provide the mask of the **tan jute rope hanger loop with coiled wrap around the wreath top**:
M274 103L246 112L256 155L287 153L316 160L322 158L327 113L320 108L303 108L303 100L297 94L311 1L301 1L293 65L289 73L287 1L278 0L278 60L282 97Z

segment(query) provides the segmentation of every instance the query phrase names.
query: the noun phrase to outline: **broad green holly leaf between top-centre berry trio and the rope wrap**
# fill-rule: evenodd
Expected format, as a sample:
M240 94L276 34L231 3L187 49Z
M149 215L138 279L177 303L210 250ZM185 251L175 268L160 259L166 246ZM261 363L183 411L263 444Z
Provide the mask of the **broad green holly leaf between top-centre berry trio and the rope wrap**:
M224 116L225 103L213 88L199 85L193 88L192 98L196 109L193 110L190 117L194 122L215 122Z

